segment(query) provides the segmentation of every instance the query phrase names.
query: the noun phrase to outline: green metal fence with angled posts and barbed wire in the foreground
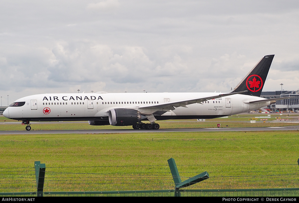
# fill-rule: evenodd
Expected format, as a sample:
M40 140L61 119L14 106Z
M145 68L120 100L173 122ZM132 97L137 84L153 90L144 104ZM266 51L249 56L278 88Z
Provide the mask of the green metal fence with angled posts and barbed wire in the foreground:
M128 166L117 166L118 172L113 173L105 171L106 166L100 167L100 171L99 167L95 166L49 167L46 170L45 164L40 162L35 162L34 168L0 168L0 196L299 196L298 165L274 165L274 168L271 165L272 171L260 171L260 166L259 170L253 171L257 165L245 165L251 170L244 170L244 165L228 165L233 167L233 170L221 173L213 171L215 175L210 177L207 172L196 176L194 171L179 174L173 159L172 161L173 165L169 164L170 170L164 170L166 165L142 165L129 166L131 172L125 172ZM147 171L158 167L164 172L136 172L140 167L146 167ZM242 169L237 170L236 167ZM242 187L246 189L239 189ZM160 188L162 190L159 190ZM82 190L88 191L82 192Z

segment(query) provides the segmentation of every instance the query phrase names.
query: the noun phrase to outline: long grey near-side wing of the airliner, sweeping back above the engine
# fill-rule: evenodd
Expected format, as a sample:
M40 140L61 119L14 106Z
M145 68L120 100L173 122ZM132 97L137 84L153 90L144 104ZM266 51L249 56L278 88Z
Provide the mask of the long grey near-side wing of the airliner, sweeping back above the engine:
M210 99L216 99L220 97L226 97L229 95L233 94L241 94L247 91L242 91L242 92L234 92L234 93L228 93L228 94L216 94L210 97L197 97L197 98L192 98L192 99L187 99L187 100L179 100L179 101L173 101L173 102L165 102L161 104L154 104L154 105L146 105L146 106L139 106L139 109L169 109L169 110L174 110L175 107L183 106L187 107L189 104L194 104L194 103L201 103L203 101L207 101Z

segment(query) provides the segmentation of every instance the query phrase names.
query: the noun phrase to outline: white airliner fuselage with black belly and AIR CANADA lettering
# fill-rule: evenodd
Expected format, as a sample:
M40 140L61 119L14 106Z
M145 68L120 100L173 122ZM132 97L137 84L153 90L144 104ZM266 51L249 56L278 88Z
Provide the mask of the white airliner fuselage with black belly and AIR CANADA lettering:
M78 93L78 94L36 94L15 102L23 106L9 106L3 113L7 118L29 121L99 120L108 118L108 111L115 108L129 108L143 115L154 114L157 120L205 119L238 114L263 106L270 102L246 104L244 102L263 98L234 94L193 103L174 110L139 109L141 106L162 104L197 97L209 97L222 93ZM148 110L148 112L147 112Z

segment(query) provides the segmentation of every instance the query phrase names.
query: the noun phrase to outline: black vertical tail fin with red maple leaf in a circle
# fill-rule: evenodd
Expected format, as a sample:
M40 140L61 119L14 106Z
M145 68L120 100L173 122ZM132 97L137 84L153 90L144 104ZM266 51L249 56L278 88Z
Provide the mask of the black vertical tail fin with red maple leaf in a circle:
M264 56L258 63L251 69L251 71L241 80L241 82L234 88L232 92L241 92L247 90L247 95L259 97L263 90L272 60L274 55Z

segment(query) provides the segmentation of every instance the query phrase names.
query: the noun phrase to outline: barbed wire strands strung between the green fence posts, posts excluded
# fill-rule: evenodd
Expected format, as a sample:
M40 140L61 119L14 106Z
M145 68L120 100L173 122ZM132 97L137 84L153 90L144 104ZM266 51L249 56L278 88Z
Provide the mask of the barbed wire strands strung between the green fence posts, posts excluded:
M208 171L209 179L187 188L196 191L207 189L297 188L299 184L298 165L295 164L178 165L178 168L188 169L179 171L182 181L203 171ZM227 170L221 171L219 168ZM205 169L210 169L210 171ZM48 167L45 172L44 192L172 191L174 187L175 184L168 165ZM32 191L36 191L34 168L0 168L0 193ZM232 194L229 194L234 196L234 192L231 192ZM183 195L184 193L181 193L182 196L185 196ZM196 194L196 196L204 194L202 191L197 191L196 193L200 193ZM210 192L209 194L212 193ZM240 195L239 193L236 194L237 196ZM173 195L171 194L170 196ZM291 193L291 196L293 196L293 193Z

